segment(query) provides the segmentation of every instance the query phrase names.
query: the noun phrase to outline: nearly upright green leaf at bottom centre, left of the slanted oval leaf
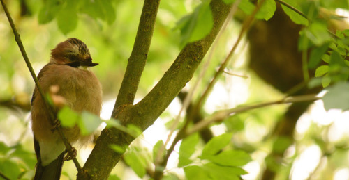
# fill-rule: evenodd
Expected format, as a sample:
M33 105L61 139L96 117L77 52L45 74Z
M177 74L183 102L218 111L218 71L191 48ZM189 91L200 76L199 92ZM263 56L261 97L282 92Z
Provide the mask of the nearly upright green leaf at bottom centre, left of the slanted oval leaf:
M198 142L198 133L188 136L181 141L181 146L179 147L178 167L183 167L192 162L190 157L195 152L195 146L198 145Z

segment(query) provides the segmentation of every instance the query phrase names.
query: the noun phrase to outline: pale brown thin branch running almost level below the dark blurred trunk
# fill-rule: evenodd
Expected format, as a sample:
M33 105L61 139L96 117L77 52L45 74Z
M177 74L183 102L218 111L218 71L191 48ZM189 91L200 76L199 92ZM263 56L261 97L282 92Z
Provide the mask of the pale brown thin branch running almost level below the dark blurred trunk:
M256 108L262 108L265 106L272 106L274 104L290 104L290 103L297 103L297 102L304 102L304 101L316 101L319 100L321 97L316 97L316 95L299 95L295 97L286 97L283 99L280 99L278 101L269 101L266 103L261 104L255 104L251 106L242 106L237 108L230 108L227 110L218 111L211 117L208 117L206 120L203 120L202 122L195 124L193 128L191 128L189 131L186 131L187 136L191 135L192 133L198 132L201 129L206 128L207 126L210 126L211 124L215 122L221 122L226 117L229 117L230 115L234 115L237 113L243 113L245 111L253 110Z

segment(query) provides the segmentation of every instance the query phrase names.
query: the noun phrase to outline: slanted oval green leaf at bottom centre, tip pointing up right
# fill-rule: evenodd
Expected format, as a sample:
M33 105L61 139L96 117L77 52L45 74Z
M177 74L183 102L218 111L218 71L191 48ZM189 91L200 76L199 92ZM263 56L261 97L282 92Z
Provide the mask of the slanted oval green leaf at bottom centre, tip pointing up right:
M221 136L216 136L209 140L205 145L204 149L202 149L202 155L210 156L217 154L219 151L223 149L223 147L227 146L232 139L232 133L224 133Z

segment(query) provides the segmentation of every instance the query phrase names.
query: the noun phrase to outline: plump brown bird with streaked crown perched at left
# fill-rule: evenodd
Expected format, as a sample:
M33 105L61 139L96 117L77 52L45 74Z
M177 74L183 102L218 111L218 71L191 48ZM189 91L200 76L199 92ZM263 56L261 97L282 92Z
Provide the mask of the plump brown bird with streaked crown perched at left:
M68 38L52 49L50 62L38 74L38 83L43 92L50 94L55 87L55 96L64 99L64 104L73 111L88 111L100 115L102 108L102 86L89 67L92 63L87 45L77 38ZM57 116L59 106L52 108ZM45 105L38 88L34 88L31 99L31 130L34 135L36 152L36 172L34 180L60 179L66 154L66 147L50 116L50 109ZM73 145L88 145L93 134L82 136L78 126L62 127L64 136Z

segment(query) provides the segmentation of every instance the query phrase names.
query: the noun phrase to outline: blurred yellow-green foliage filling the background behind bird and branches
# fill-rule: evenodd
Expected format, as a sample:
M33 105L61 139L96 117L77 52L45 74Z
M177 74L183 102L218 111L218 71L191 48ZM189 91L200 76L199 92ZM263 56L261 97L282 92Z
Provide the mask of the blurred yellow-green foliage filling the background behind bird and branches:
M237 0L224 0L225 3L235 3ZM302 24L300 32L299 51L309 51L306 64L315 69L315 77L311 77L309 85L322 85L327 88L323 98L327 113L322 113L334 119L332 108L343 111L349 107L348 81L349 78L349 30L336 28L331 33L330 21L341 21L345 18L335 15L334 10L349 9L347 0L284 0L308 19L294 10L282 6L283 11L296 24ZM126 68L128 56L131 54L135 33L138 28L142 1L7 1L8 8L15 21L18 31L26 48L29 59L36 72L50 59L50 49L69 37L80 38L91 51L91 56L97 67L92 70L103 85L105 101L114 99L117 95L121 79ZM256 7L255 2L241 0L239 10L251 15ZM268 20L276 10L276 1L267 0L256 15L258 19ZM22 12L30 12L22 14ZM348 11L347 11L348 12ZM184 44L205 37L212 26L212 15L209 1L161 1L158 19L154 30L151 49L148 54L147 66L144 69L138 95L140 99L147 94L152 86L161 78L170 66ZM232 47L232 43L241 29L238 21L231 22L221 35L221 39L214 45L207 73L202 77L194 99L202 95L207 82L220 65L223 58ZM0 101L11 100L15 104L29 104L34 83L27 67L22 60L12 31L2 8L0 9ZM283 94L265 84L258 76L246 69L246 40L239 45L238 51L232 57L228 69L237 74L247 74L248 79L224 74L220 77L203 113L205 116L220 109L232 108L244 103L261 102L283 97ZM267 44L266 44L267 46ZM211 54L211 52L209 52ZM198 71L203 67L199 67ZM193 81L197 80L195 74ZM192 82L188 83L190 88ZM188 88L186 87L186 88ZM247 88L244 88L247 87ZM247 89L247 90L246 90ZM217 98L221 97L221 98ZM114 100L112 100L114 101ZM339 103L340 102L340 103ZM20 108L9 109L6 104L0 106L0 172L10 179L31 179L34 175L36 157L32 145L29 124L29 112ZM177 104L177 106L180 106ZM20 107L20 106L18 106ZM177 107L178 108L178 107ZM269 166L276 171L276 179L288 179L295 170L295 161L302 156L304 149L316 145L320 147L320 163L325 162L325 168L314 162L316 170L311 170L308 176L317 175L318 179L331 179L339 169L348 169L348 138L349 134L343 130L341 137L333 131L340 131L338 121L331 123L316 122L315 117L299 120L301 127L295 132L295 139L289 137L273 137L272 129L280 120L288 105L262 108L228 117L222 124L211 126L211 130L223 126L223 131L214 131L215 136L206 145L200 140L198 133L184 138L179 145L178 164L174 171L166 169L163 179L239 179L242 174L253 174L258 179L263 168ZM332 111L333 112L333 111ZM345 113L343 113L345 114ZM343 115L341 114L341 115ZM163 124L170 122L177 115L168 108L158 121ZM304 115L304 116L306 116ZM333 116L331 116L333 115ZM102 122L107 126L114 126L121 131L138 136L139 129L123 127L116 120L102 121L89 113L77 113L69 108L63 108L59 117L63 126L78 124L83 133L91 133ZM344 117L348 117L344 115ZM339 118L339 117L338 117ZM181 121L182 123L184 122ZM348 124L348 123L347 123ZM179 127L182 124L179 125ZM169 129L169 128L168 128ZM167 131L168 132L168 131ZM332 136L335 136L334 138ZM164 137L157 136L157 143L148 149L143 147L147 140L138 138L131 147L111 146L117 152L125 152L124 163L119 163L110 179L125 179L129 173L140 178L147 178L154 169L154 159L163 146ZM147 143L146 143L147 144ZM154 147L154 148L153 148ZM152 150L151 150L152 149ZM269 158L269 152L283 153L282 165ZM161 154L160 156L162 156ZM325 160L323 160L325 159ZM258 163L256 169L248 169L251 163ZM320 164L319 163L319 164ZM76 172L71 165L64 166L62 177L75 177ZM133 172L130 172L131 167ZM251 167L251 166L250 166ZM165 167L161 167L165 168ZM128 171L127 171L128 170ZM243 176L244 177L244 176ZM244 177L248 179L248 177Z

